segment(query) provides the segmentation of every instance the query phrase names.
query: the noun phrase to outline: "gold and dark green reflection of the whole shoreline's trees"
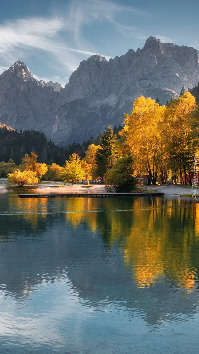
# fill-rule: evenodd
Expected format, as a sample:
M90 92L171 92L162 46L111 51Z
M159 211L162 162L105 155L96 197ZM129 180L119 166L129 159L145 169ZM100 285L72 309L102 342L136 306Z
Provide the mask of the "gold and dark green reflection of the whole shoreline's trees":
M60 214L74 230L86 225L92 233L101 235L107 250L111 251L115 244L119 246L125 269L131 272L138 287L151 287L163 277L187 293L195 287L199 268L199 204L192 199L146 196L52 201L10 195L5 215L9 212L21 217L20 221L10 218L10 227L28 234L35 229L41 236ZM8 235L5 218L1 225L2 235Z

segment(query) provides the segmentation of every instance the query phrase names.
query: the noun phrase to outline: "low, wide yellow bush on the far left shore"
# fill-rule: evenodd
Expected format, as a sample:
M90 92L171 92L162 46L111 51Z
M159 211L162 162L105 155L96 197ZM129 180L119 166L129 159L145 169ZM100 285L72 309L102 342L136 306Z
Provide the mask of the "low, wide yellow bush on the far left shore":
M39 182L38 178L36 177L36 172L33 172L31 170L17 170L13 173L8 173L7 178L8 181L15 182L18 185L36 184Z

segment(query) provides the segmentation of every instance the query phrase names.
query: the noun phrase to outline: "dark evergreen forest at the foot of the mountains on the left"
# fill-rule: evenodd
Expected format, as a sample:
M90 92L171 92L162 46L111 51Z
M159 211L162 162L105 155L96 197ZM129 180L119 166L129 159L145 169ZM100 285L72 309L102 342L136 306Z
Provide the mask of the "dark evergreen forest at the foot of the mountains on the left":
M122 127L114 127L116 134ZM7 130L0 128L0 162L7 162L12 159L16 165L21 164L25 154L35 152L38 155L38 162L46 162L51 165L53 162L63 166L69 159L69 155L78 154L81 158L85 157L85 152L90 144L98 145L100 137L85 140L82 144L74 143L66 147L58 146L54 142L47 141L44 133L35 130Z

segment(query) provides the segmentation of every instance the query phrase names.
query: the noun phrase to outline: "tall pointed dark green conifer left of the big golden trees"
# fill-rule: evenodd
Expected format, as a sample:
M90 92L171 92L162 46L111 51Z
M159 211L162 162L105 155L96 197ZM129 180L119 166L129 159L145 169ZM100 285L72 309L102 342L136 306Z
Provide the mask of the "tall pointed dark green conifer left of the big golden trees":
M115 154L116 135L108 125L100 138L100 147L96 151L97 175L104 177L108 168L111 168L116 160Z

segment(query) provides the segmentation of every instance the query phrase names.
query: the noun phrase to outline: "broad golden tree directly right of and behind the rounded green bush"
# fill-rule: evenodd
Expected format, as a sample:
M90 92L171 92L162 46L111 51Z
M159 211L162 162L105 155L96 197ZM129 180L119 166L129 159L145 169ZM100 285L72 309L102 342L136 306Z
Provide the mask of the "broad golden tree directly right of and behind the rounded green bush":
M144 96L133 102L131 115L125 114L124 138L126 153L135 157L135 163L148 172L152 184L156 183L159 166L164 160L164 142L160 133L164 106Z

